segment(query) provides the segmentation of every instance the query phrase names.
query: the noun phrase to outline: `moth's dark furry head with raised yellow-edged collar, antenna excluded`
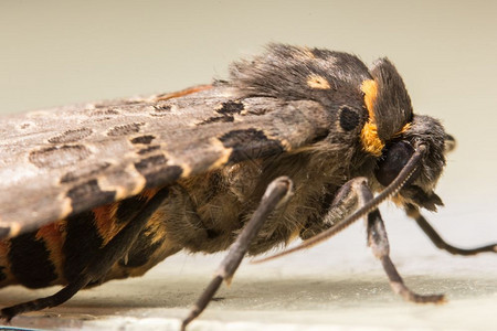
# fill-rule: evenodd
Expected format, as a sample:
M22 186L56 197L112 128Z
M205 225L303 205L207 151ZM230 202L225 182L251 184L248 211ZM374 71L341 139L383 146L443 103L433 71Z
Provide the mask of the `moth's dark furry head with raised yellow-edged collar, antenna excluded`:
M445 154L454 149L455 140L435 118L413 113L404 83L388 58L377 61L370 73L372 79L361 86L369 111L361 139L364 149L379 157L376 179L388 186L423 146L414 173L394 201L434 211L443 203L433 190L445 166Z

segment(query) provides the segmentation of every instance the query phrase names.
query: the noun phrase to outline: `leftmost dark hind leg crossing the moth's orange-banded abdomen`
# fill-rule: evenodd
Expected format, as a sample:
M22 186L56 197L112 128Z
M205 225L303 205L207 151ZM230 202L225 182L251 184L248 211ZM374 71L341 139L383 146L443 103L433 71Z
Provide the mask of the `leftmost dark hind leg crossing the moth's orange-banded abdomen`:
M102 248L101 254L73 281L55 295L3 308L0 311L0 318L10 321L13 317L22 312L36 311L62 305L89 282L102 279L112 266L127 254L148 220L167 199L168 194L168 188L159 190L137 215Z

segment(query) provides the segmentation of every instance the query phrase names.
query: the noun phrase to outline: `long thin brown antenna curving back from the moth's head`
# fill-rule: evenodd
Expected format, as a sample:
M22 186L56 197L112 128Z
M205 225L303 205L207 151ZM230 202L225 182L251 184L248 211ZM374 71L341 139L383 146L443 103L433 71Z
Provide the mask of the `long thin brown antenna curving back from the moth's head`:
M342 231L343 228L348 227L349 225L351 225L353 222L356 222L357 220L368 215L370 212L372 212L373 210L376 210L383 201L385 201L387 199L391 197L392 195L399 193L399 191L405 185L405 183L408 182L408 180L411 178L411 175L416 171L417 169L417 164L420 163L424 152L426 150L426 146L424 145L419 145L414 151L414 153L412 154L412 157L409 159L408 163L405 164L404 168L402 168L401 172L399 172L399 174L396 175L396 178L383 190L380 192L380 194L378 194L377 196L374 196L374 199L366 202L360 209L358 209L353 214L347 216L346 218L339 221L336 225L334 225L332 227L321 232L320 234L305 241L302 242L299 245L283 250L281 253L277 253L275 255L268 256L268 257L264 257L261 259L255 259L251 263L253 264L260 264L263 261L267 261L267 260L272 260L285 255L288 255L290 253L297 252L297 250L302 250L304 248L309 248L314 245L317 245L330 237L332 237L334 235L336 235L337 233L339 233L340 231Z

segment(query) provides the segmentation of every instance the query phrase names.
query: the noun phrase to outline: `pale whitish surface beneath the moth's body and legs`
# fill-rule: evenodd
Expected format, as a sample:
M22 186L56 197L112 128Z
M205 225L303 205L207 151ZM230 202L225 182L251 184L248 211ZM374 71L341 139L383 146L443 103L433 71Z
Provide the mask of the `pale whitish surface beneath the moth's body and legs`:
M406 284L421 293L444 292L447 303L414 305L396 297L357 224L308 252L242 265L231 288L223 285L215 296L222 300L212 302L190 330L491 330L497 256L450 256L432 247L410 221L389 216L392 258ZM464 231L448 233L464 236ZM180 254L142 278L82 291L63 307L17 318L13 325L177 330L221 258ZM54 290L4 289L0 305Z

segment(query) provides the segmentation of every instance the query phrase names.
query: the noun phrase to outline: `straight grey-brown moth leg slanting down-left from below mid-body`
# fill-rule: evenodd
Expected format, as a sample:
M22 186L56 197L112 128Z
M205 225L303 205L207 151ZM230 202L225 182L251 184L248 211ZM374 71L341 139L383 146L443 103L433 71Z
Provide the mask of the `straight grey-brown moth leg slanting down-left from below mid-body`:
M187 325L205 309L223 280L228 284L231 282L234 273L248 249L251 241L257 235L264 222L267 220L267 216L276 210L281 203L284 203L289 199L292 188L293 183L286 177L275 179L267 186L258 207L243 228L242 233L237 236L236 241L231 245L230 250L219 266L214 278L191 308L188 317L182 321L181 330L186 330Z

